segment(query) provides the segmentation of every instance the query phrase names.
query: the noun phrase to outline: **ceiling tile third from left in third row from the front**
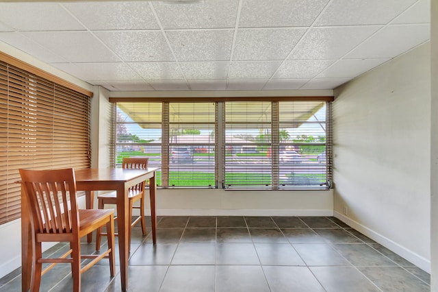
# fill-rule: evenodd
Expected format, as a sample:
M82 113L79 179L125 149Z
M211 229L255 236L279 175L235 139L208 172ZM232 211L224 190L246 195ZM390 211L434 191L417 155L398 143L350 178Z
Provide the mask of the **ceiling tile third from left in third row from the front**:
M184 78L177 62L128 63L145 80L181 80Z

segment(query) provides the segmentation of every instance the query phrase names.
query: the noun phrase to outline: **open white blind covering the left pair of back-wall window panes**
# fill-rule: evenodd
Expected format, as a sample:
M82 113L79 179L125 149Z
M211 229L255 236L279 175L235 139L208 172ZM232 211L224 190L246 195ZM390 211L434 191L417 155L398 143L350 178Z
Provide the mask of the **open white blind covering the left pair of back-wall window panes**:
M215 187L215 103L117 103L116 161L147 156L157 184ZM118 164L117 163L117 164Z

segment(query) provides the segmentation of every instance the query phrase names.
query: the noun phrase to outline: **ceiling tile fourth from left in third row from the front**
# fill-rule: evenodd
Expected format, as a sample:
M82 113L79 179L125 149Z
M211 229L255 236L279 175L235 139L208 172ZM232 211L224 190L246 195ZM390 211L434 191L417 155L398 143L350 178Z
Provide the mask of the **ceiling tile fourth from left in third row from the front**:
M186 79L227 79L229 62L179 62Z

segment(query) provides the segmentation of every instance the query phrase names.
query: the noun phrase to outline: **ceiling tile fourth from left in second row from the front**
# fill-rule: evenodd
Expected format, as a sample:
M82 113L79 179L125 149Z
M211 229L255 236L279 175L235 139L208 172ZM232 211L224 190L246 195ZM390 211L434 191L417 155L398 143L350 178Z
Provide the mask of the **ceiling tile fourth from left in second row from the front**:
M232 29L167 31L179 61L229 61Z

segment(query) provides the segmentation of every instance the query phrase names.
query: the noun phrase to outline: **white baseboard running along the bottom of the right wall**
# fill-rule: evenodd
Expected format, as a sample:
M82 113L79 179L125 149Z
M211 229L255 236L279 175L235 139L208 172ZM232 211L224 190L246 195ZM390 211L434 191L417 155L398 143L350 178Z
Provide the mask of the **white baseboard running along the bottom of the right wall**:
M378 232L375 232L374 230L371 230L370 228L363 226L361 223L358 223L355 220L350 219L349 217L346 217L344 214L334 211L334 216L346 223L348 226L355 228L355 230L361 232L362 234L365 234L366 236L370 237L370 239L376 241L377 243L380 243L384 247L386 247L388 250L391 250L392 252L395 252L402 258L409 260L409 262L413 263L420 269L430 273L430 260L415 254L415 252L412 252L411 250L408 250L407 248L403 247L402 245L399 245L398 243L391 241L391 239L388 239L387 237L383 236L382 234L379 234Z

